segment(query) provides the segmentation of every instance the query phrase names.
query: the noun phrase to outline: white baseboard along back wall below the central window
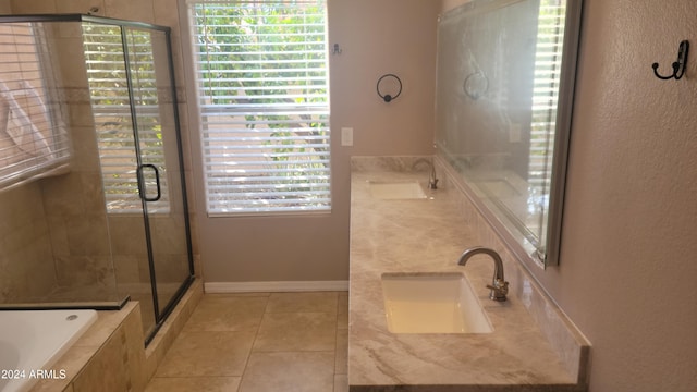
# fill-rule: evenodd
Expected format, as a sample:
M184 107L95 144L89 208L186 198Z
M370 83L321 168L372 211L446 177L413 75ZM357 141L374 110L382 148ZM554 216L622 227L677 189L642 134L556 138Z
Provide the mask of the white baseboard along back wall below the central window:
M207 282L206 293L278 293L348 291L348 281Z

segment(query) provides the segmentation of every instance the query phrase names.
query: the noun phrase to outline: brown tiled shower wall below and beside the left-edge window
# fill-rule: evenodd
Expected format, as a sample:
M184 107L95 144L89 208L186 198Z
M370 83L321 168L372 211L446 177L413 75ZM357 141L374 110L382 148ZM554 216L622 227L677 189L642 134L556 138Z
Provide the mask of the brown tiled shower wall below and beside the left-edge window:
M62 111L73 152L68 173L0 194L0 233L7 242L0 266L9 271L0 278L0 299L5 303L40 301L57 286L115 290L86 71L84 61L76 61L82 59L80 26L49 26L51 65L60 100L68 103Z

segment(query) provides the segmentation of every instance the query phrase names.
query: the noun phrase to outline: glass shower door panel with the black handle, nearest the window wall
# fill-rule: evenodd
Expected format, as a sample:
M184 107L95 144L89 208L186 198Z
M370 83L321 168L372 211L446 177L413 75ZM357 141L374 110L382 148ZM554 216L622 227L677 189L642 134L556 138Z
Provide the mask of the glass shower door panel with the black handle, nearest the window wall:
M161 320L193 271L167 34L124 27L154 307ZM167 162L167 164L166 164Z

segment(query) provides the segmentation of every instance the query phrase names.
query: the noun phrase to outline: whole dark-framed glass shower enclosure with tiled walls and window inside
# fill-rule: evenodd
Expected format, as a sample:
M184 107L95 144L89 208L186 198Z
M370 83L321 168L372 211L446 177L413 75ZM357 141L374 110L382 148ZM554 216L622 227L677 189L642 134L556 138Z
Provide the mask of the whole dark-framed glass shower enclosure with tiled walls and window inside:
M0 302L118 309L193 281L168 27L0 16Z

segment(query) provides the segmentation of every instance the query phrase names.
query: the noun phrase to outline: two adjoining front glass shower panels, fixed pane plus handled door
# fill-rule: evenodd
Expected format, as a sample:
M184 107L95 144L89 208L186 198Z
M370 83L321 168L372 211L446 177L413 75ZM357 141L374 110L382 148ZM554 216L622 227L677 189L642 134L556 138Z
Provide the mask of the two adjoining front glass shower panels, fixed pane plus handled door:
M91 23L83 36L118 285L151 338L193 275L169 37Z

